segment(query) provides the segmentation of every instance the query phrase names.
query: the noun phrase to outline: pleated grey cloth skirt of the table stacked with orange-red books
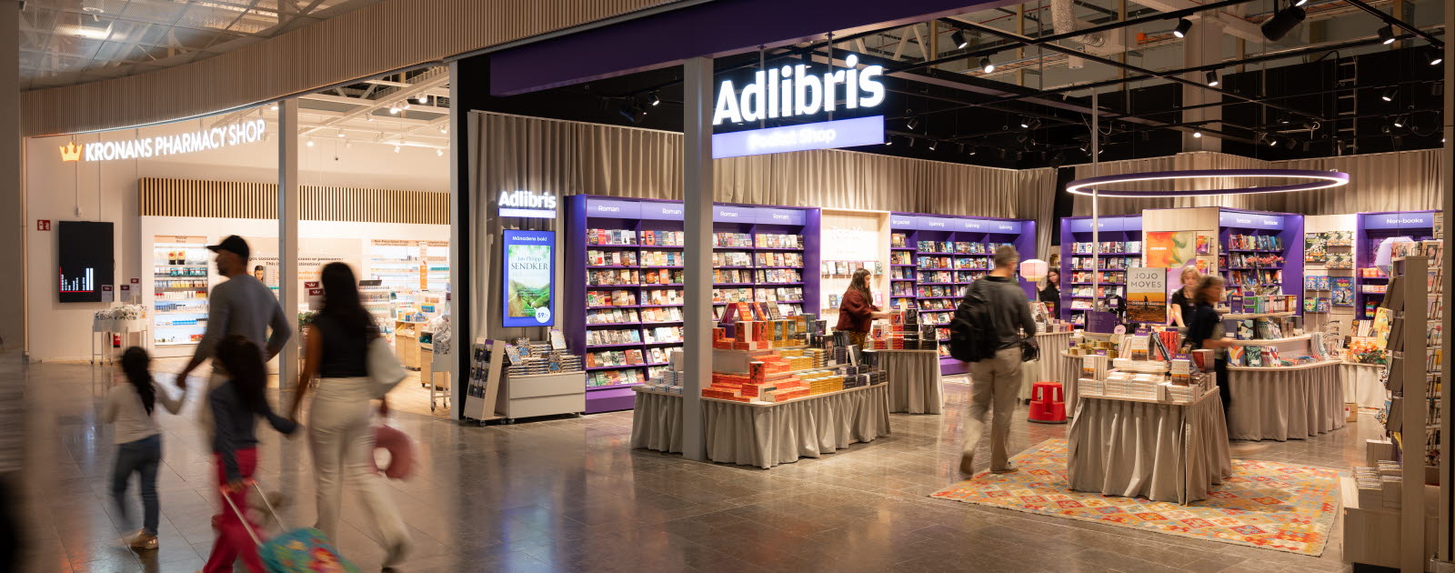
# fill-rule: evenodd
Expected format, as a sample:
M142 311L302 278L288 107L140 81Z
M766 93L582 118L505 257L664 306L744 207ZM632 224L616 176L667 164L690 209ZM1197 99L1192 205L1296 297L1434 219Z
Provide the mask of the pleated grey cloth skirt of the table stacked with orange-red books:
M631 446L682 451L682 396L634 388ZM783 403L701 398L707 460L771 468L889 435L889 384Z

